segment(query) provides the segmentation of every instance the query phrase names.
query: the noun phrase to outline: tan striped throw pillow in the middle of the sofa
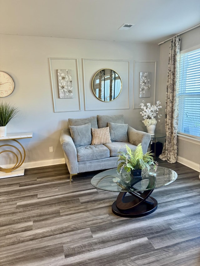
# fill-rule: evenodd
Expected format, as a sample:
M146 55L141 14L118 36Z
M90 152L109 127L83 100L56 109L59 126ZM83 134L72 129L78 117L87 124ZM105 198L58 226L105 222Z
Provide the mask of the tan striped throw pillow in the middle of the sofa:
M110 139L110 130L107 128L92 128L92 144L112 143Z

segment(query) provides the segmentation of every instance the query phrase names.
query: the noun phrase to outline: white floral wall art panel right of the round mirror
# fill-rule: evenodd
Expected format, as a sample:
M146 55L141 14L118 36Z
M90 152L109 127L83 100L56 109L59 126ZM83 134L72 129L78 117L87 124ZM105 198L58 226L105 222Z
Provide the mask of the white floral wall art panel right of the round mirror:
M151 72L139 72L139 98L151 97Z

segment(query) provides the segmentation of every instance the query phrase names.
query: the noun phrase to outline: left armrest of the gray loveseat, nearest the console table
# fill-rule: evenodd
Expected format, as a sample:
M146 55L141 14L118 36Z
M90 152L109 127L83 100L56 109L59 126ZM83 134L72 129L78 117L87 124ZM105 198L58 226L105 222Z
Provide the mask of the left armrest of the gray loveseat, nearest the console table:
M77 150L71 137L69 128L61 131L60 143L65 155L65 161L70 174L78 173Z

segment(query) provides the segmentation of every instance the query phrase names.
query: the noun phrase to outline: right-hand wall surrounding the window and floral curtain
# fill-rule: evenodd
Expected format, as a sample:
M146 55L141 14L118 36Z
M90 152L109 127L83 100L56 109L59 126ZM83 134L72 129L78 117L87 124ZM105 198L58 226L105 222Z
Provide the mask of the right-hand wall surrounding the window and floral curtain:
M200 27L182 34L181 38L181 51L200 45ZM158 98L162 102L165 102L169 46L170 41L160 45ZM164 117L164 108L162 108L161 111ZM163 126L163 124L164 119L158 126ZM200 162L200 140L178 136L178 162L198 171Z

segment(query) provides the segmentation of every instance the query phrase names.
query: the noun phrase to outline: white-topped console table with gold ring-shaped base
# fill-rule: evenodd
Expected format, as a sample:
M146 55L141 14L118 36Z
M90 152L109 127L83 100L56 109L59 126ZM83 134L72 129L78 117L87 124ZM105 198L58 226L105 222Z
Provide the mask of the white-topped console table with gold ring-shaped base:
M11 153L14 158L15 162L13 163L12 167L4 168L0 165L0 178L6 177L16 177L16 176L23 176L24 175L24 168L21 167L26 156L26 152L22 144L17 139L22 138L32 138L32 132L28 133L13 133L7 134L6 137L0 137L0 141L12 141L14 145L11 144L2 144L0 143L0 162L1 156L5 155L6 153ZM18 146L18 148L16 147Z

